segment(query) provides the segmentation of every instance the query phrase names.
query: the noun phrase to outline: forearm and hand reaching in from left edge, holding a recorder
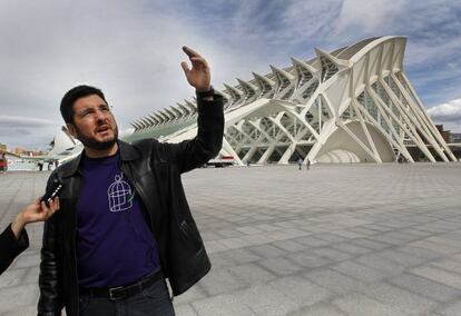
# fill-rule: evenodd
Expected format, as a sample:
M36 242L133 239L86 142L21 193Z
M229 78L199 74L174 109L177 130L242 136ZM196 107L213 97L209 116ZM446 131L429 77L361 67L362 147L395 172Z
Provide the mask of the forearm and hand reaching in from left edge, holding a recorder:
M50 201L49 207L40 199L21 210L0 235L0 275L11 265L12 260L29 247L29 237L26 225L35 221L43 221L59 209L59 198Z

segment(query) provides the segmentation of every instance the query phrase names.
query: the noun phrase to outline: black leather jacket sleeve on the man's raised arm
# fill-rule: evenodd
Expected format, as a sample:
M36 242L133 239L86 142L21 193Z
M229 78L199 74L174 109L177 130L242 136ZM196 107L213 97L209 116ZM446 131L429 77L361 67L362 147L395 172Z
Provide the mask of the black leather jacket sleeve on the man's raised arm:
M171 159L178 165L180 172L197 168L216 157L223 146L223 97L215 93L212 101L197 96L197 113L195 138L179 144L163 144L170 147Z

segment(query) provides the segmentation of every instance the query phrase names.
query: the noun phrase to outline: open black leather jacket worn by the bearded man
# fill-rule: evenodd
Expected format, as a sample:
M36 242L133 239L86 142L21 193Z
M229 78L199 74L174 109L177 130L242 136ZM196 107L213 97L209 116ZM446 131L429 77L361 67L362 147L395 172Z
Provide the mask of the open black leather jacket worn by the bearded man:
M190 140L161 144L145 139L131 145L119 141L120 168L141 199L146 218L158 244L161 268L179 295L210 269L197 226L190 215L180 174L215 157L224 131L223 99L198 98L198 131ZM61 210L43 227L40 264L38 315L78 315L78 277L76 258L77 210L81 172L80 157L56 169L55 179L63 184Z

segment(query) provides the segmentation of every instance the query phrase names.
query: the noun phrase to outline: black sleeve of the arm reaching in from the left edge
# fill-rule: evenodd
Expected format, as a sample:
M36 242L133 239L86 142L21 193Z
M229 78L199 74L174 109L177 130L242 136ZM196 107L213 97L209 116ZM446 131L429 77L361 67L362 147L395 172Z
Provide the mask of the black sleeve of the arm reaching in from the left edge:
M0 235L0 275L27 247L29 247L29 237L26 229L22 229L18 240L11 230L11 225L9 225Z

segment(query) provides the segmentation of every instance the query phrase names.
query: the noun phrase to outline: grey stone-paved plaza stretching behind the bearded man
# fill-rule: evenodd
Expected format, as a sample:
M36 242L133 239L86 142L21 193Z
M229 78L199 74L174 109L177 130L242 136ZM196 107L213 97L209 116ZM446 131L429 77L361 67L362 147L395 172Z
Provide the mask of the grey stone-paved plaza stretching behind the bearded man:
M48 172L0 175L1 229ZM315 165L184 175L212 271L177 315L461 315L461 165ZM35 315L41 225L0 277Z

